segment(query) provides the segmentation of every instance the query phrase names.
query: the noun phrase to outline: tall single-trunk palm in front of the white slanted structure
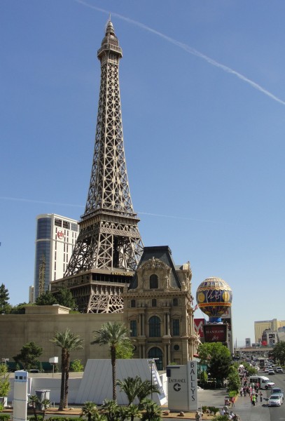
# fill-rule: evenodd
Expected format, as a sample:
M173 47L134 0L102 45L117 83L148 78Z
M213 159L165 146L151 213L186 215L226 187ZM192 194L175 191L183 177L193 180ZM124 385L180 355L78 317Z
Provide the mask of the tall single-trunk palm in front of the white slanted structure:
M108 345L111 351L113 401L116 401L116 349L119 345L130 344L129 330L123 323L109 321L102 325L100 330L95 330L94 341L91 344Z

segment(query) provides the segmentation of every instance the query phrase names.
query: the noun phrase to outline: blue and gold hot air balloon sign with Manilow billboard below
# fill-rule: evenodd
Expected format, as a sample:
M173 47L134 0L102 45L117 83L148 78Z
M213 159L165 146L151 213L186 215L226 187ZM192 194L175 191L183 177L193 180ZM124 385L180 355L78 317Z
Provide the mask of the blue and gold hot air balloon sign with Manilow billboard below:
M196 292L197 306L209 316L204 325L205 342L228 342L228 325L222 323L221 316L230 313L232 289L221 278L205 279Z

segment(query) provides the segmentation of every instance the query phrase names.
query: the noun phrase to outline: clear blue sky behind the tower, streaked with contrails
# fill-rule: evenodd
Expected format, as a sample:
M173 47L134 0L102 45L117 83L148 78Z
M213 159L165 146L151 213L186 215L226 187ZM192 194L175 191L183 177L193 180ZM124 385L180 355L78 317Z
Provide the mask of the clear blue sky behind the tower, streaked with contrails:
M1 0L0 283L27 302L36 215L84 211L109 12L144 245L190 261L193 295L228 282L234 338L254 341L285 319L281 0Z

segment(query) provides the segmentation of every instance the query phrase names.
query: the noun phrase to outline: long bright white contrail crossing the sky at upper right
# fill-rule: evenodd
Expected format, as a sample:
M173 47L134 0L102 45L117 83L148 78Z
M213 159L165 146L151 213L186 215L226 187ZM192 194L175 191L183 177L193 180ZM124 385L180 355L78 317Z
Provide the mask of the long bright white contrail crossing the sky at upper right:
M88 4L83 0L74 0L74 1L76 1L79 4L83 4L83 6L95 9L95 11L106 13L108 15L110 14L109 11L106 11L105 9L99 8L97 6L92 6L92 4ZM129 22L132 25L136 25L137 27L140 27L141 29L145 29L148 32L152 32L153 34L160 36L160 38L163 38L166 41L169 41L171 44L174 44L175 46L177 46L179 48L182 48L187 53L196 55L197 57L202 58L203 60L206 60L210 65L218 67L219 69L222 69L224 72L227 72L227 73L233 74L234 76L237 76L239 79L241 79L242 81L244 81L246 83L249 83L250 86L252 86L253 88L257 89L258 91L264 93L265 95L267 95L272 100L277 101L282 105L285 105L285 101L283 101L280 98L278 98L277 96L273 95L271 92L267 91L265 88L258 85L258 83L252 81L251 79L248 79L246 76L244 76L243 74L241 74L239 72L236 72L234 69L231 69L228 66L225 66L225 65L222 65L219 62L216 62L216 60L208 57L207 55L204 55L203 53L200 53L200 51L195 50L195 48L192 48L192 47L188 46L187 44L183 44L180 41L177 41L176 39L171 38L170 36L162 34L162 32L158 32L155 29L144 25L144 23L137 22L137 20L132 20L130 18L126 18L123 15L119 15L118 13L113 13L113 12L111 13L111 15L116 16L116 18L118 18L120 20L125 20L126 22Z

